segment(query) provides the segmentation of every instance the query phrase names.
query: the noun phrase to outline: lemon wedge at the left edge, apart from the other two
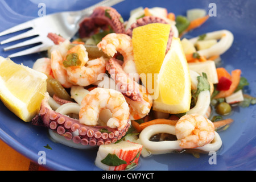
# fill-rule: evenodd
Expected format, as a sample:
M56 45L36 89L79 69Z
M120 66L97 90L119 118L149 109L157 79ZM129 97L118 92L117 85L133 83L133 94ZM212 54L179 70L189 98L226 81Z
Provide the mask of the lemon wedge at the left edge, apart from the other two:
M16 116L30 122L46 93L47 76L0 56L0 99Z

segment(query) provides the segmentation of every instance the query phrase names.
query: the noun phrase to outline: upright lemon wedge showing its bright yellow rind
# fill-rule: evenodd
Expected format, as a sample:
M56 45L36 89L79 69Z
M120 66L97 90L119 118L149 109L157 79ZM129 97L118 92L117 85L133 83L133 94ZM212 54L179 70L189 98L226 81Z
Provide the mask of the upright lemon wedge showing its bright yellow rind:
M155 74L166 55L170 24L150 23L133 29L133 53L137 72L148 93L154 94Z

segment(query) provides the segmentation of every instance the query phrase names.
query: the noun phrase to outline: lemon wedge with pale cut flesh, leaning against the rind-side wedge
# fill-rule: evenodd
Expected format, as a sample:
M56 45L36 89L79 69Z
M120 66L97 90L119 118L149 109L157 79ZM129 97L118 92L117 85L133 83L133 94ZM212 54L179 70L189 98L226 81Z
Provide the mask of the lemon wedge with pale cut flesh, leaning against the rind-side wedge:
M158 77L159 96L153 110L164 113L185 113L191 104L191 78L188 63L179 38L173 38L170 51L164 57Z

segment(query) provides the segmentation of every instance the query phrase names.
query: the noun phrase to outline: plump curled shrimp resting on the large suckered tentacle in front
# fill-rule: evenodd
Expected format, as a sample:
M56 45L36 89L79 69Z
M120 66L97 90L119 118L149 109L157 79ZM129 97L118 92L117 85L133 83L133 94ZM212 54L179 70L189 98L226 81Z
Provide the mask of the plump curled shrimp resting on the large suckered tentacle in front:
M112 118L106 123L111 128L122 130L129 121L129 106L121 92L113 89L95 88L81 102L79 120L85 125L97 125L101 110L109 109Z

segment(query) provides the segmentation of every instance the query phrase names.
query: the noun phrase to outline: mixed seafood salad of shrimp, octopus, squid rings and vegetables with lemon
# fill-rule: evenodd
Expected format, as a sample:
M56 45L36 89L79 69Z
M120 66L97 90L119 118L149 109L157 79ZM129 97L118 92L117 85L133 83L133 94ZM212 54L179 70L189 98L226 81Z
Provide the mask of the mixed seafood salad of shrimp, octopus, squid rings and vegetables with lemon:
M242 70L218 67L232 32L185 38L208 18L203 9L181 16L138 7L123 20L113 7L100 6L81 21L75 38L48 32L54 45L27 71L44 84L38 110L26 122L46 127L55 142L97 148L94 162L103 170L133 169L150 155L218 152L218 132L235 122L232 107L255 98L243 93L249 83ZM1 77L9 61L0 57Z

